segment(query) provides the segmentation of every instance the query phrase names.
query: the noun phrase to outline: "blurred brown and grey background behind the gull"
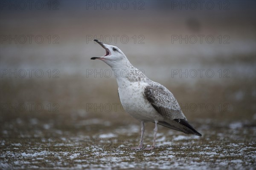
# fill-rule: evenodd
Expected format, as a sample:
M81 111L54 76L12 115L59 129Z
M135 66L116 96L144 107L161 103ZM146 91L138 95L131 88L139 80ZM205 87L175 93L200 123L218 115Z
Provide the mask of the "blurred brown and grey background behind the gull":
M1 147L5 138L140 135L114 72L90 60L105 55L93 39L166 86L203 137L255 144L255 1L14 0L1 1L0 14Z

